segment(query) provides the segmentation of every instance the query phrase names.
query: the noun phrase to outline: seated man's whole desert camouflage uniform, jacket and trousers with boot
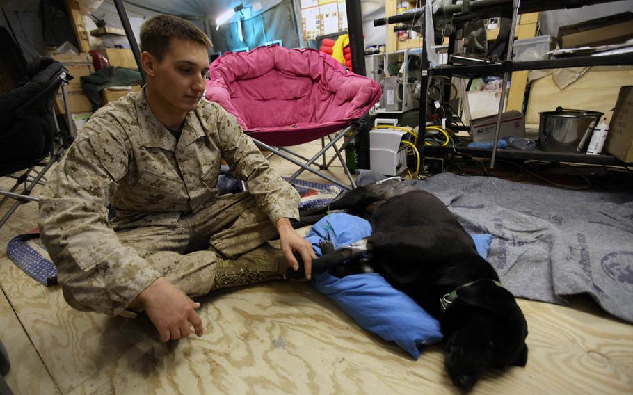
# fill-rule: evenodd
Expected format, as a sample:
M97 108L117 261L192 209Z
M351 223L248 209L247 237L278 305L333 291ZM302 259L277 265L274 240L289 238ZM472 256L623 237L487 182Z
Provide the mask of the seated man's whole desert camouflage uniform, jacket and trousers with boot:
M218 195L221 159L249 193ZM142 90L81 130L46 184L40 231L67 302L120 314L161 276L189 296L278 277L284 259L265 242L298 202L218 104L202 99L177 140Z

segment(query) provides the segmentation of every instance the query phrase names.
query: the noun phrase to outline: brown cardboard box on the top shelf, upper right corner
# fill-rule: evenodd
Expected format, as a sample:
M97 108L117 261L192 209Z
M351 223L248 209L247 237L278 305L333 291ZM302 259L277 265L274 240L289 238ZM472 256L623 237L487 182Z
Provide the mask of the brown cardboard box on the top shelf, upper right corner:
M633 38L633 13L620 13L559 28L561 48L607 45Z

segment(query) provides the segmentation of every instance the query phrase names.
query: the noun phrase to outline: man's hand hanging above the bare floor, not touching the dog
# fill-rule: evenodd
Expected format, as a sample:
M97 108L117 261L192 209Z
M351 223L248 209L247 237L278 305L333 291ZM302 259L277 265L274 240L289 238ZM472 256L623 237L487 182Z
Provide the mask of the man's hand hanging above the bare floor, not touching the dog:
M161 341L177 340L191 334L189 323L193 325L195 334L202 336L202 321L195 312L200 303L194 302L175 285L163 277L152 282L138 295L143 303L147 316L150 317Z

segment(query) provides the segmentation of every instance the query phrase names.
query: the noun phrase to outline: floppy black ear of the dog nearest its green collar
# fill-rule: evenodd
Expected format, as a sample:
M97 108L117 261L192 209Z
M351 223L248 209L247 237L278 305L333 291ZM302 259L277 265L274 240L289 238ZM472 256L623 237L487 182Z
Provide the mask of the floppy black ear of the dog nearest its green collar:
M490 310L499 314L511 314L516 304L514 296L507 289L490 281L478 281L467 287L457 289L457 297L474 307Z

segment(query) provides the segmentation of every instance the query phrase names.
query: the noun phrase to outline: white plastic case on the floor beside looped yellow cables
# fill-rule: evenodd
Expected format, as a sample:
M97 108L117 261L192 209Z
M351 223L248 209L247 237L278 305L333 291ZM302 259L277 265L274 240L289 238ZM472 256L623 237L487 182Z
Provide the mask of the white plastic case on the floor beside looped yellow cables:
M369 168L383 175L399 175L406 171L406 147L400 147L406 131L376 129L369 131Z

